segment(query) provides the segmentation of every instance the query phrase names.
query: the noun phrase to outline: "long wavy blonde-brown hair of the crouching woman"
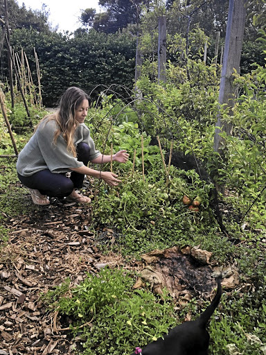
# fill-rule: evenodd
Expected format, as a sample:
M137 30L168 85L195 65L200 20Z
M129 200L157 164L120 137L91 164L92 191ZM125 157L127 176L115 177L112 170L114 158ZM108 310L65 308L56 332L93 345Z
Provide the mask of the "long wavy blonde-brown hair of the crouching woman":
M76 157L77 153L76 147L73 144L73 135L77 126L80 124L75 119L75 112L83 100L89 101L89 106L91 105L91 98L82 89L69 87L60 98L57 112L43 119L47 119L47 121L54 120L57 123L58 129L53 136L53 143L56 144L58 136L62 133L67 143L67 150L69 150L74 157Z

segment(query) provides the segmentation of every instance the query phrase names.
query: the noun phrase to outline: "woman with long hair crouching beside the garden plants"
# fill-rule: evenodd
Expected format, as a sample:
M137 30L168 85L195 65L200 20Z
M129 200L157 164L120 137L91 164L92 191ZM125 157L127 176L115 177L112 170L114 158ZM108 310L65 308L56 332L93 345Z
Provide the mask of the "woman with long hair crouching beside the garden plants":
M82 187L85 175L101 178L111 187L121 182L118 175L110 171L96 171L87 166L89 161L111 162L110 155L96 150L84 123L90 104L91 99L85 92L69 87L62 95L57 112L39 122L33 137L19 153L18 177L28 187L36 205L48 205L47 196L91 202L76 191ZM125 163L128 157L126 150L120 150L112 159ZM68 172L70 178L65 175Z

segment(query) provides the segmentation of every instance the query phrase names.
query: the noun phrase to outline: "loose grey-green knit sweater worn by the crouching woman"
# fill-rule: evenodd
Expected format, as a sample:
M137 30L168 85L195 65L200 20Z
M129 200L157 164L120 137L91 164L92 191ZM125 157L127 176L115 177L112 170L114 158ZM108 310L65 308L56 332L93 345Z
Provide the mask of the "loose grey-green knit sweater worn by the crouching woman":
M49 169L52 173L67 173L70 171L69 168L84 165L67 150L67 143L62 134L57 138L56 145L53 144L55 130L57 130L57 125L53 120L44 120L39 124L33 137L19 153L17 172L20 175L30 176L44 169ZM73 138L75 146L82 141L90 148L89 160L100 155L99 150L95 149L89 128L84 123L78 126Z

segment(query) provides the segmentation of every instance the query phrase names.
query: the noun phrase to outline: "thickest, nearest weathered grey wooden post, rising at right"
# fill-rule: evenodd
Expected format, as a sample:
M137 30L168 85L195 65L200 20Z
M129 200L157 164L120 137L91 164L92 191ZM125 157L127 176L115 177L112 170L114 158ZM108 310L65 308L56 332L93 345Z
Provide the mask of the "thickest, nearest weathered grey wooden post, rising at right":
M229 13L227 20L227 34L224 44L224 58L222 63L222 77L220 80L219 103L228 105L233 108L236 99L236 89L232 85L233 70L239 72L240 58L242 51L242 40L245 30L246 8L247 0L230 0ZM232 110L230 110L232 114ZM219 133L220 130L231 135L231 124L222 123L220 114L218 114L218 121L216 123L214 135L214 150L222 155L222 138ZM223 157L223 155L222 155Z

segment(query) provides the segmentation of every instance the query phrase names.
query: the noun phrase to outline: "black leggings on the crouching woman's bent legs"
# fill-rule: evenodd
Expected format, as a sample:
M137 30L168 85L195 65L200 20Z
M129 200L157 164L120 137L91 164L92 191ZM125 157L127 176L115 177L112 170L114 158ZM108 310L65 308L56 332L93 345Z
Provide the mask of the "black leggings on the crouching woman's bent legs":
M81 142L77 146L77 158L87 166L89 162L89 146ZM42 170L31 176L21 176L17 174L19 180L30 189L39 190L42 195L63 198L69 196L74 188L80 189L83 185L83 174L72 171L70 178L64 173L51 173L50 170Z

